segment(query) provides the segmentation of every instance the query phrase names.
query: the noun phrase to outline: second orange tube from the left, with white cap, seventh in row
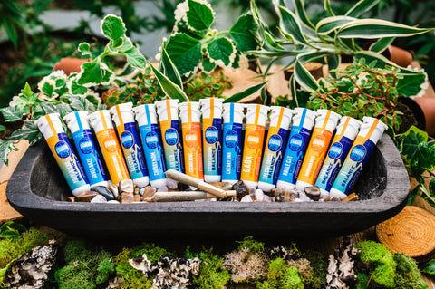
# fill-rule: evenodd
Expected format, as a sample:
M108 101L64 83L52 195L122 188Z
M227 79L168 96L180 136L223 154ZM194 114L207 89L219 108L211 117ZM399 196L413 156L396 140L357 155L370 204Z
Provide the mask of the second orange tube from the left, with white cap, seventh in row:
M202 136L201 136L201 111L199 102L188 101L179 104L179 118L183 134L184 166L186 174L202 180Z

